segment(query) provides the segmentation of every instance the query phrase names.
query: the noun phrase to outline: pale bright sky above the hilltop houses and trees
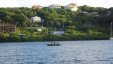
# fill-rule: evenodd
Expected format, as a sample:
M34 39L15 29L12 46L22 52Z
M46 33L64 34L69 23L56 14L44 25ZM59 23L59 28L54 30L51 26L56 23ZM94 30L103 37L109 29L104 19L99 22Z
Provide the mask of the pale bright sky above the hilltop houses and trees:
M112 0L0 0L0 7L32 7L33 5L49 6L51 4L67 5L76 3L78 6L113 7Z

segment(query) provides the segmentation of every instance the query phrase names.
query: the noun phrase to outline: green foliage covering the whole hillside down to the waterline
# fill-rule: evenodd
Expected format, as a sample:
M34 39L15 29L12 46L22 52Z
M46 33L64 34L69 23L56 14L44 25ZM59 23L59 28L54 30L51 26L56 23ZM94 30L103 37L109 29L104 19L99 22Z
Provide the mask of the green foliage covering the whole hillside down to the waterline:
M113 21L113 8L106 9L86 5L78 8L79 10L75 12L64 7L62 9L44 7L41 10L25 7L0 8L0 20L17 23L18 27L15 33L0 34L0 41L9 39L12 41L107 39L110 22ZM93 13L98 13L98 15ZM41 32L27 30L26 27L36 24L30 23L30 18L33 16L41 17L44 21L40 25L46 29ZM51 32L54 30L64 30L65 33L52 35ZM19 34L26 34L26 37L22 40Z

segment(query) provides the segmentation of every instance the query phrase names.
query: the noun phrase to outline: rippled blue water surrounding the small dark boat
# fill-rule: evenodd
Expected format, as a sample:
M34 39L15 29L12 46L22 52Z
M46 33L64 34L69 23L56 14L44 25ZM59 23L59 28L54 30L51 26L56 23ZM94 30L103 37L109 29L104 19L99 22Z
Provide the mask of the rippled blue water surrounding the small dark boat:
M113 64L113 41L0 43L0 64Z

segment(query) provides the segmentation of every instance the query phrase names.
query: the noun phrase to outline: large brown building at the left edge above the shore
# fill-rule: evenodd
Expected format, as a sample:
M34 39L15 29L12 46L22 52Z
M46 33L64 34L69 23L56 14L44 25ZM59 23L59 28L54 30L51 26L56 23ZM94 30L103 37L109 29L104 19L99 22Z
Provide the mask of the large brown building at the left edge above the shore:
M11 23L0 23L0 33L13 33L16 31L16 24L11 24Z

